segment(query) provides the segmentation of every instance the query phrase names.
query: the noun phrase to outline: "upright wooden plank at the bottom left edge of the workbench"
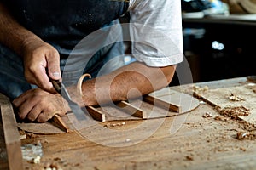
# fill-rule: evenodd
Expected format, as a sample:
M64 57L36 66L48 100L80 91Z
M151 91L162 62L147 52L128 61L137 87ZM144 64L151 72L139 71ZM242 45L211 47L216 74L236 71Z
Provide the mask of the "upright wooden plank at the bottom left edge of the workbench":
M8 101L8 99L6 98ZM3 133L6 144L10 170L23 169L22 154L20 148L20 133L13 107L9 102L1 104L1 116L3 121Z

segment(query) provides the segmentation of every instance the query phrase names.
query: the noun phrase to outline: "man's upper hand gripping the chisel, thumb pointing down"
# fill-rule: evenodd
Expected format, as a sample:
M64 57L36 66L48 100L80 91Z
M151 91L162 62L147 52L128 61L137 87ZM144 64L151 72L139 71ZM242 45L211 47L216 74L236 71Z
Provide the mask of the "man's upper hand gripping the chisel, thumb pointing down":
M23 48L26 81L54 94L55 89L50 79L61 79L58 51L38 38L26 40Z

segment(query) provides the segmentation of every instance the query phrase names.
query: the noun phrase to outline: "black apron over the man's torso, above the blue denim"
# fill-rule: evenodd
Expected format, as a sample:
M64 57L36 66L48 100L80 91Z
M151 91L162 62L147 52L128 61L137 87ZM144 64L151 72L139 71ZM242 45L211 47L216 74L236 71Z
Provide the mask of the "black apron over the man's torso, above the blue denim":
M73 47L92 31L125 14L127 0L0 0L15 19L45 42Z

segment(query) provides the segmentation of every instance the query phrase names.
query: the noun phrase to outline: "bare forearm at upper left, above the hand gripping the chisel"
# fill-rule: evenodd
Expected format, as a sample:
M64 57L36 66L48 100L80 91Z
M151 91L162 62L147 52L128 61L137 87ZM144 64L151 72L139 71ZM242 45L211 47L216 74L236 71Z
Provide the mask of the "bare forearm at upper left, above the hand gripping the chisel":
M22 55L26 43L40 39L15 21L3 3L0 3L0 42Z

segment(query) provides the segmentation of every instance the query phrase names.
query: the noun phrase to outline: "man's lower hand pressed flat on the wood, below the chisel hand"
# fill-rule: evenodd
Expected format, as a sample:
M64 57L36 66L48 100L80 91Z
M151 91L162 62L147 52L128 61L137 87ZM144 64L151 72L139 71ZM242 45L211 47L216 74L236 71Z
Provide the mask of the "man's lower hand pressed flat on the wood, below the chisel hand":
M21 119L47 122L55 114L64 116L70 108L60 94L50 94L35 88L21 94L13 101Z

